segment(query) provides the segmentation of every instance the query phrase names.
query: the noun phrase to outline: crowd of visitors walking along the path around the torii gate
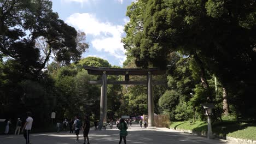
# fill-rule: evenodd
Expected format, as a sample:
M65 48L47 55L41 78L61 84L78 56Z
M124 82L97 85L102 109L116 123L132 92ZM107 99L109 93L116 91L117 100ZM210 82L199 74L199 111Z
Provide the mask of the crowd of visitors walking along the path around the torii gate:
M26 118L26 122L22 127L22 121L20 118L17 119L16 122L16 129L15 129L15 133L14 135L19 135L20 132L23 132L24 138L26 140L26 144L30 143L30 132L32 129L32 123L33 123L33 118L31 117L31 112L27 112L27 118ZM110 129L113 129L113 125L116 125L116 129L120 130L120 141L119 144L121 143L122 140L124 140L124 143L126 144L126 136L127 136L127 129L129 127L132 127L132 121L133 119L124 119L124 118L120 118L120 119L110 119L110 122L107 123L105 119L103 119L103 122L101 121L97 121L97 119L95 119L94 121L94 130L106 130L107 127L109 127ZM9 127L11 124L11 119L9 119L9 121L7 122L7 125L5 127L5 131L4 134L8 135L9 134ZM147 122L146 121L142 121L142 119L139 121L139 125L142 128L142 125L144 125L144 128L147 128ZM67 131L69 131L69 133L75 133L76 135L76 139L75 142L78 143L79 142L79 133L83 133L83 137L84 137L84 144L86 143L86 140L88 142L88 144L90 144L89 141L89 131L90 131L90 118L89 116L85 115L83 122L82 119L79 118L78 115L74 116L74 119L72 118L68 118L68 119L64 119L64 121L57 121L56 123L56 131L57 133L60 133L60 131L62 130L64 133L67 133ZM61 129L62 128L62 129Z

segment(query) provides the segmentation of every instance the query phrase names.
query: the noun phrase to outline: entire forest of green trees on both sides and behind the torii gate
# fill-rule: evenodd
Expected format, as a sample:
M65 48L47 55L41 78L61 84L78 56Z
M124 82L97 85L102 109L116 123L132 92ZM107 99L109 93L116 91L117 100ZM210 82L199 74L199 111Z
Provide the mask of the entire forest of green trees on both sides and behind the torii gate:
M215 117L256 118L255 1L139 0L127 7L123 68L165 69L154 76L154 112L171 121ZM86 34L59 19L49 0L0 1L0 118L26 117L36 125L75 113L99 117L100 86L83 65L120 68L88 50ZM123 76L108 76L122 80ZM146 79L132 76L130 80ZM147 87L108 85L107 116L147 114Z

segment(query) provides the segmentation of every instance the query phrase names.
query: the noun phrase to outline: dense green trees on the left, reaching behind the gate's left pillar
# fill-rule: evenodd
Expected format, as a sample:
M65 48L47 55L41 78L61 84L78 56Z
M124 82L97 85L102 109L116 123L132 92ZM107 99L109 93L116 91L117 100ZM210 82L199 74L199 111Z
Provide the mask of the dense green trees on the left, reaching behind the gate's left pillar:
M112 67L102 58L80 59L89 47L85 33L51 7L49 0L0 1L0 118L25 121L31 111L36 129L51 124L51 112L55 122L75 114L98 118L100 86L88 81L100 77L88 75L83 65ZM108 86L109 118L120 115L115 112L122 95L121 86Z

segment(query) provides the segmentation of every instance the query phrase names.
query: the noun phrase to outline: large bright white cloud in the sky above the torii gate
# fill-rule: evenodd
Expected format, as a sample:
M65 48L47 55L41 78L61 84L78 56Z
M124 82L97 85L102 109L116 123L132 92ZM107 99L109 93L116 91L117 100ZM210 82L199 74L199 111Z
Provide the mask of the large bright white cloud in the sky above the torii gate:
M121 36L124 34L123 25L114 25L110 22L101 22L96 15L89 13L75 13L69 16L66 22L92 36L91 44L94 49L100 52L108 52L118 59L122 65L125 61L126 52L121 43Z

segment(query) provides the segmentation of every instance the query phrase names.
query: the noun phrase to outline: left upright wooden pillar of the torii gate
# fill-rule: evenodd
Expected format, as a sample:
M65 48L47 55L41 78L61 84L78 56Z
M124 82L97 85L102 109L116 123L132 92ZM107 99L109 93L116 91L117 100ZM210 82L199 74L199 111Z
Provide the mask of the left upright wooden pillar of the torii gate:
M107 75L106 71L103 71L102 83L101 83L101 108L100 108L100 121L103 123L103 119L107 121Z

